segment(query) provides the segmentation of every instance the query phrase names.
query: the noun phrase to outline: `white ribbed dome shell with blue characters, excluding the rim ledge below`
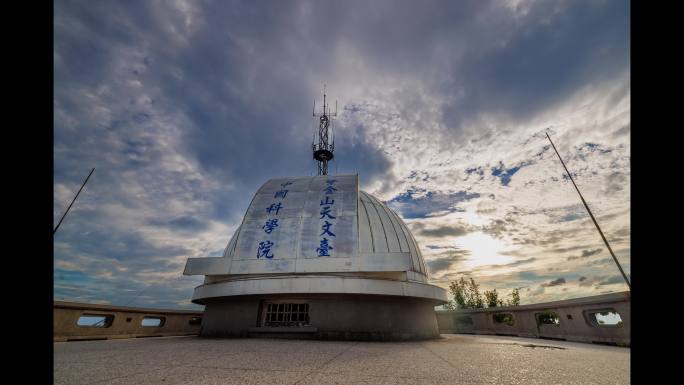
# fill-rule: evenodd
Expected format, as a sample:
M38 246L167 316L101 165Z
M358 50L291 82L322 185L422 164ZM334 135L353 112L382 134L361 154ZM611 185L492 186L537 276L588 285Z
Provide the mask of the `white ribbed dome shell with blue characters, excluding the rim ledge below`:
M223 258L190 258L185 274L387 272L427 282L411 231L387 205L360 191L354 174L267 181Z

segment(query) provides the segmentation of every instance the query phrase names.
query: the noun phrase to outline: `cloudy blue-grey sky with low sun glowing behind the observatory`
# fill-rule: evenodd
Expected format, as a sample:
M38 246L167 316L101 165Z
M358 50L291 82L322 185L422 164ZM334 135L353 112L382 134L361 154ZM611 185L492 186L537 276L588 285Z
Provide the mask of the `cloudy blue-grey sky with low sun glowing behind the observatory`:
M189 302L267 179L336 162L412 228L435 284L521 302L626 290L629 3L65 1L54 5L55 299Z

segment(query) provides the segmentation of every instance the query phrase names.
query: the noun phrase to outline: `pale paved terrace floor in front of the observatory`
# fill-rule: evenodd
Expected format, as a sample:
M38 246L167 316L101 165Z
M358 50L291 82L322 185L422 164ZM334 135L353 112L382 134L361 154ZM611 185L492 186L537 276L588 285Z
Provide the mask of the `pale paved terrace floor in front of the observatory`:
M56 342L56 384L627 384L628 348L443 334L423 342L199 337Z

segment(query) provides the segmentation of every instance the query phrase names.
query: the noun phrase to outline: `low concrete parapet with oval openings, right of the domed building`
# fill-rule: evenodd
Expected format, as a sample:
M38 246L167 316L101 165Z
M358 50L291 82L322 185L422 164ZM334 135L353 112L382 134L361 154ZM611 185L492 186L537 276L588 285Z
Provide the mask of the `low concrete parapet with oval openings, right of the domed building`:
M601 326L590 317L592 312L609 310L620 314L621 326ZM538 325L537 314L544 311L556 312L560 323ZM436 313L440 333L513 335L620 345L630 343L629 292L514 307L438 310ZM512 314L513 325L495 322L497 313ZM470 317L472 324L459 322L461 317Z

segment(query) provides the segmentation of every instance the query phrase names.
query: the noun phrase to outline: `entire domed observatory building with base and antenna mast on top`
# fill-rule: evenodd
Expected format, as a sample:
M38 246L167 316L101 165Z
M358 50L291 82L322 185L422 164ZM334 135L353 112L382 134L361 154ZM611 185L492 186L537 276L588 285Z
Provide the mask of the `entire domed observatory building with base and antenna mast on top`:
M326 107L313 146L321 175L267 181L223 257L188 259L184 274L205 276L192 297L205 305L201 335L439 336L434 307L446 292L428 283L409 228L359 190L357 174L326 175Z

